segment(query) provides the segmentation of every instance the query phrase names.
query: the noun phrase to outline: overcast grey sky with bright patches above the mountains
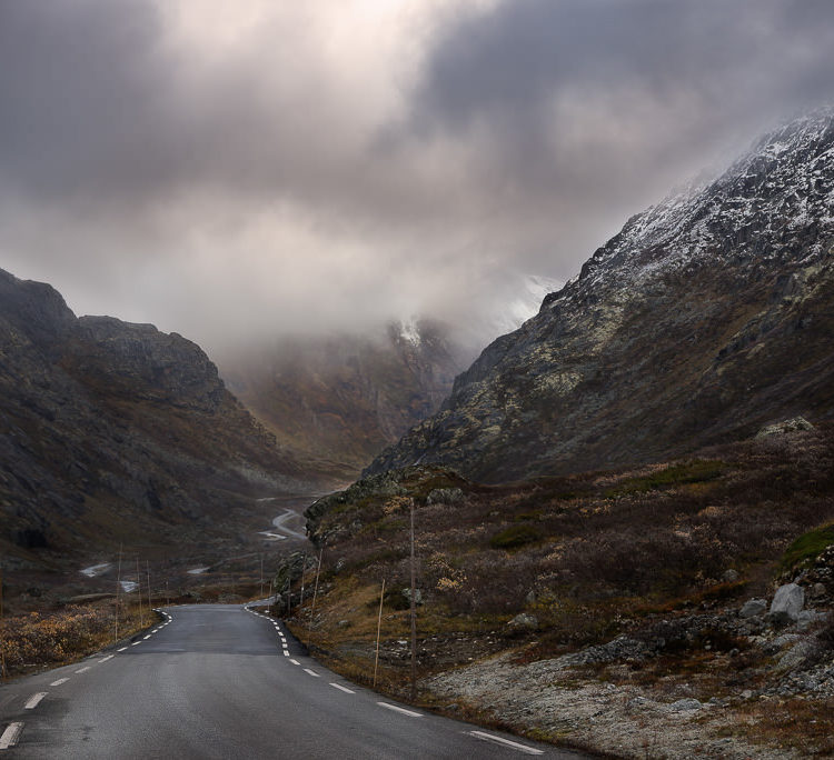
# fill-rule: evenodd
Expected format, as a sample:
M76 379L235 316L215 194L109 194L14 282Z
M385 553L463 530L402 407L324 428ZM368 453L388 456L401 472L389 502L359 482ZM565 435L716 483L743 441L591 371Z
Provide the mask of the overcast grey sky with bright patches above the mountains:
M828 0L0 0L0 267L209 352L477 321L833 89Z

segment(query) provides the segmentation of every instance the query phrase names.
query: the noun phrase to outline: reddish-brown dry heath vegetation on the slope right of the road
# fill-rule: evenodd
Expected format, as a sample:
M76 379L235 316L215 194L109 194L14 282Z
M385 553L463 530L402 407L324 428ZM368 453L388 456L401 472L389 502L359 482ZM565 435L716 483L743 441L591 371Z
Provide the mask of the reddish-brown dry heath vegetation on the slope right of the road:
M435 489L460 489L463 498L427 503ZM744 600L771 594L780 577L790 579L827 546L834 437L823 430L757 439L639 470L488 488L448 470L413 468L398 494L390 491L336 503L316 529L325 544L317 609L310 613L308 598L295 631L332 667L370 680L385 578L379 680L407 696L403 590L414 500L424 683L500 651L524 664L620 634L656 639L663 630L664 650L649 662L585 668L576 677L671 696L686 684L689 696L729 699L762 688L772 660L722 621L735 619ZM311 580L308 570L308 588ZM525 620L512 624L519 613ZM714 621L692 636L681 621L694 616ZM749 731L751 739L791 743L785 716L793 702L780 704L763 707L763 729ZM834 732L821 704L812 710L814 736ZM825 742L807 741L824 751Z

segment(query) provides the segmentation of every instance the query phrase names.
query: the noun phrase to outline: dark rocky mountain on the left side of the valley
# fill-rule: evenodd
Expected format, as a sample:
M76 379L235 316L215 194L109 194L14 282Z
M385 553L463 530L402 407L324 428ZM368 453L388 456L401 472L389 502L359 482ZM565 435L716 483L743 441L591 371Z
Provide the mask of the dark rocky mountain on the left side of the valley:
M198 346L70 311L0 270L0 547L95 553L217 536L255 497L317 487ZM261 516L262 518L262 516Z

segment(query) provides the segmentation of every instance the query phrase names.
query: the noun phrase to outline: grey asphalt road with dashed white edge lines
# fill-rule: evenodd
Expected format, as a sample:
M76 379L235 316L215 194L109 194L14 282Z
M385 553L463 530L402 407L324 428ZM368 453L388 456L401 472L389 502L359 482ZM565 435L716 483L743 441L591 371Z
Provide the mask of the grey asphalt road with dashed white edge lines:
M579 757L357 687L242 607L163 612L132 643L0 687L0 757Z

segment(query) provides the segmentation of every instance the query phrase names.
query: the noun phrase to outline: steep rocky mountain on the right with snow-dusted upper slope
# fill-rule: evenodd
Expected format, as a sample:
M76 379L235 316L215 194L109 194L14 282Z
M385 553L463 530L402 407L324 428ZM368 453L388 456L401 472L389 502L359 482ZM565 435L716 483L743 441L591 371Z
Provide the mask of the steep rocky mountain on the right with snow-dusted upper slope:
M366 474L656 461L834 412L834 109L629 219Z

